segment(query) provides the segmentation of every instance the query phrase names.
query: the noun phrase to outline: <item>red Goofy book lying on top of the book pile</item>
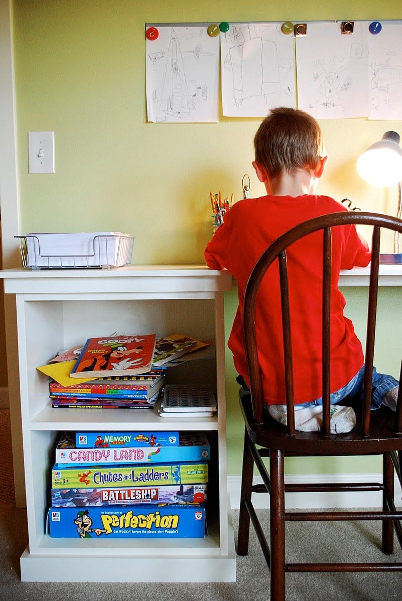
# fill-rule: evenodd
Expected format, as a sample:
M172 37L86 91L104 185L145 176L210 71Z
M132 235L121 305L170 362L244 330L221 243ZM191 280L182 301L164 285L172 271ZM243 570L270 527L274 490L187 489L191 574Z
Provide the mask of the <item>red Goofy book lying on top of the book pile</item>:
M143 374L151 369L156 334L88 338L71 377Z

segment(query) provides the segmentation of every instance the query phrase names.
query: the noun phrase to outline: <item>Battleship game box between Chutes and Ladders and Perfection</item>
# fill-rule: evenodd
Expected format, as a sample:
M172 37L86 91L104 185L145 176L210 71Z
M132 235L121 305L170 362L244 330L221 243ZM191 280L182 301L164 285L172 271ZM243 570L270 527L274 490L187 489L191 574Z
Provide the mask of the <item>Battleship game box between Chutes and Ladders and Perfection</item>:
M203 503L207 499L206 484L174 484L172 486L132 486L128 488L52 489L50 502L56 507L103 507L148 503Z

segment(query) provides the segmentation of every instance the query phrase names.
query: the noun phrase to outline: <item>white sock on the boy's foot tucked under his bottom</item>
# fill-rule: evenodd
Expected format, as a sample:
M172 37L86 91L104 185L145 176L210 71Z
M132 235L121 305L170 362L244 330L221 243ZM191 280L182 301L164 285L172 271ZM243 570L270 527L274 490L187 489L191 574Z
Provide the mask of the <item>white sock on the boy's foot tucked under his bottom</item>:
M269 405L268 412L279 421L287 425L286 405ZM331 405L330 425L332 434L350 432L356 426L356 413L352 407ZM294 406L294 427L300 432L320 432L323 426L322 405L311 407Z

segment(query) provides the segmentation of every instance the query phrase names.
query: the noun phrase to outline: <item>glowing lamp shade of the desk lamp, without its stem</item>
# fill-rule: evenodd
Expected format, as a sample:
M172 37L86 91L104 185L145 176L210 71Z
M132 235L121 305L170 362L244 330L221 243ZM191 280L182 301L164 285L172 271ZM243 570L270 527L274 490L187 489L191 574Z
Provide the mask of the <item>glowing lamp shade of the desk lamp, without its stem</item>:
M402 180L401 136L386 132L358 160L358 173L374 186L393 186Z

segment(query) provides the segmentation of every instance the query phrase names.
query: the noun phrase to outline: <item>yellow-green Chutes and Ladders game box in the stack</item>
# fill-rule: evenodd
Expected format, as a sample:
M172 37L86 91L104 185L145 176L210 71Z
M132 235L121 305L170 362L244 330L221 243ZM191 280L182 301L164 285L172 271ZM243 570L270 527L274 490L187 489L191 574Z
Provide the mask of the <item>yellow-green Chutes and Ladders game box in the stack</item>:
M208 482L208 463L77 465L52 468L52 489L161 486Z

